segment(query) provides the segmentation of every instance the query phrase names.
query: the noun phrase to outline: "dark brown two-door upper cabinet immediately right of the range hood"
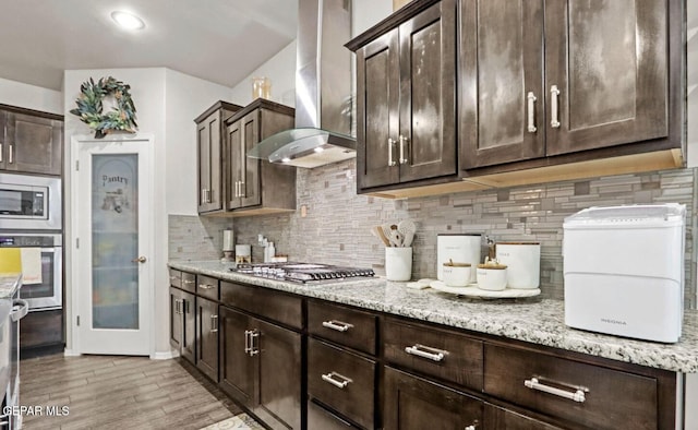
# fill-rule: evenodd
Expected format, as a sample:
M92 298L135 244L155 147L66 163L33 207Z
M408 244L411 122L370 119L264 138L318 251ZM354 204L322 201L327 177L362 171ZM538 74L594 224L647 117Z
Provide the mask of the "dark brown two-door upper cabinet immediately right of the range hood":
M416 2L357 53L357 187L456 176L456 0Z

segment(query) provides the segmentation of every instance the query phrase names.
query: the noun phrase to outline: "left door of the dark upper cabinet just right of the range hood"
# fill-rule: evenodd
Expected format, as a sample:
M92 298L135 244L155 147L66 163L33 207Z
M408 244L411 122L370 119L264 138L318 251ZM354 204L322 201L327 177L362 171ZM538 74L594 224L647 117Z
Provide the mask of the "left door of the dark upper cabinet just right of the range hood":
M357 183L398 183L400 69L398 29L357 51Z

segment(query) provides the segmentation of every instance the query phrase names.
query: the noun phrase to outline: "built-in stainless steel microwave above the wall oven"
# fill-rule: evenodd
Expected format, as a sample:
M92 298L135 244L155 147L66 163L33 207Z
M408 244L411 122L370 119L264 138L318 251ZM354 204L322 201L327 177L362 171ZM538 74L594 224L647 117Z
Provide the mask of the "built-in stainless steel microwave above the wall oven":
M61 179L0 174L0 229L60 230Z

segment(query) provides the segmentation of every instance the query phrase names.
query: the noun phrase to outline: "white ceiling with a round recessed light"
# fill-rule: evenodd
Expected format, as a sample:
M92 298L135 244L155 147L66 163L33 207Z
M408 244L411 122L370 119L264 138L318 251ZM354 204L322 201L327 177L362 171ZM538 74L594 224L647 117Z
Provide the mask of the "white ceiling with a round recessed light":
M63 70L148 67L232 87L298 23L298 0L0 0L0 77L52 89ZM118 29L115 10L145 29Z

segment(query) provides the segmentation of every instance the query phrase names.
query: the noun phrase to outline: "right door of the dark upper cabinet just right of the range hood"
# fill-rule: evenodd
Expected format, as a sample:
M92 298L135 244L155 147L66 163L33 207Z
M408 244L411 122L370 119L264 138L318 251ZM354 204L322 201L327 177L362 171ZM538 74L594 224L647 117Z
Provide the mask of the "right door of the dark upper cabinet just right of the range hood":
M399 27L400 182L457 172L456 0L442 0Z

